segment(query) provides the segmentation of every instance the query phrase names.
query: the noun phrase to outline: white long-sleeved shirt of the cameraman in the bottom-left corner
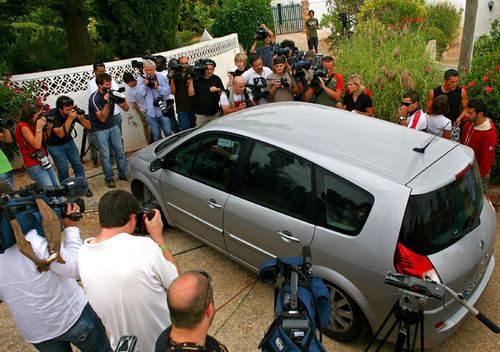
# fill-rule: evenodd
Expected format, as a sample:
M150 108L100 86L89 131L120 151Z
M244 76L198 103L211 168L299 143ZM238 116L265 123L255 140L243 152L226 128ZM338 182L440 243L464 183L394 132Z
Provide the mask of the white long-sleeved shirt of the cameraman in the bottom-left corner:
M36 230L25 237L38 258L49 257L47 240ZM66 263L53 262L50 270L43 273L17 245L0 254L0 300L7 304L17 329L29 342L56 338L80 318L87 304L87 297L76 282L81 246L80 230L64 229L61 257Z

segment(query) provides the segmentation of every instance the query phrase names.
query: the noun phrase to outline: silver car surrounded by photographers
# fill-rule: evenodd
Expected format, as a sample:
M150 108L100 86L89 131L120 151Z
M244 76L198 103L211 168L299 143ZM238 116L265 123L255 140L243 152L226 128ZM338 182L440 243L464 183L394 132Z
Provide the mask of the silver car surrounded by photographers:
M254 271L310 245L336 340L377 330L399 297L388 271L430 276L472 305L493 272L496 218L473 151L396 124L268 104L156 142L129 172L170 225ZM428 301L426 347L466 314L450 296Z

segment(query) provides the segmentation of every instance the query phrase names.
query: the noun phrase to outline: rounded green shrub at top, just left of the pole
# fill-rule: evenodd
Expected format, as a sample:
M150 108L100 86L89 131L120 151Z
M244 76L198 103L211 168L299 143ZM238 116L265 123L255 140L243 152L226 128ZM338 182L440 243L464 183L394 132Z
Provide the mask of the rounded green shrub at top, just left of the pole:
M427 26L440 29L448 38L447 45L457 35L460 11L449 2L436 2L427 7Z

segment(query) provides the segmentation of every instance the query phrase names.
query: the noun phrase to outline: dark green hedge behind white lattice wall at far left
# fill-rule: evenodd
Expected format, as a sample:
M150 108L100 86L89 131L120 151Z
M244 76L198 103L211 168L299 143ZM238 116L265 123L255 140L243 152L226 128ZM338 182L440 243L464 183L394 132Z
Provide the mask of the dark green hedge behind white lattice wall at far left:
M5 44L1 59L12 73L54 70L68 66L66 33L35 23L11 24L14 40Z

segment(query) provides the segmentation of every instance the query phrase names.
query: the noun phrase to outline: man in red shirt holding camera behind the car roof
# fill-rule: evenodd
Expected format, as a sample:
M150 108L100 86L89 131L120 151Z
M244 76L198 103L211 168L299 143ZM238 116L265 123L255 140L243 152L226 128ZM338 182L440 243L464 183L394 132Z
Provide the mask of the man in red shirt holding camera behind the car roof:
M336 107L341 102L344 90L344 78L333 72L335 67L333 57L325 56L321 60L323 72L321 75L314 74L310 87L304 94L306 101L316 104ZM317 68L315 68L316 70Z

